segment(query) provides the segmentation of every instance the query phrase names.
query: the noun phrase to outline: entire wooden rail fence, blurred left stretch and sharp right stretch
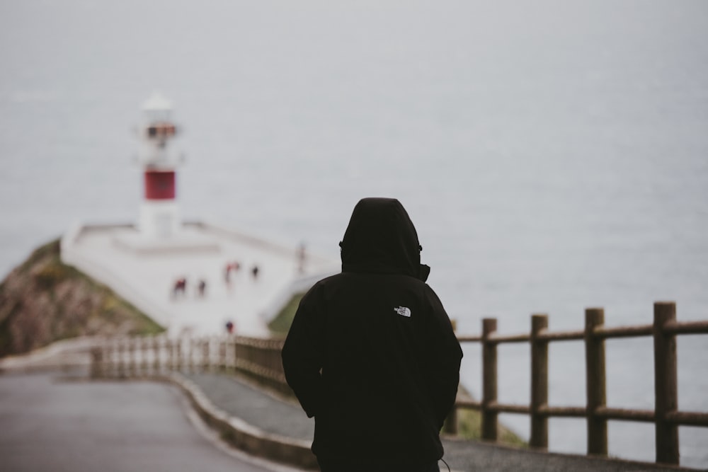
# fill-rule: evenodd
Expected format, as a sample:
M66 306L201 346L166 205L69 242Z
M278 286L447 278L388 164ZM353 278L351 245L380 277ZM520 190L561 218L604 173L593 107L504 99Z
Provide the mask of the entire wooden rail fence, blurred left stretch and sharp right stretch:
M708 427L708 413L678 410L676 337L708 334L708 321L678 323L673 303L654 304L654 322L645 326L605 327L603 309L586 310L584 330L549 332L548 317L533 315L531 331L521 335L498 335L496 318L482 320L481 336L458 336L460 343L481 343L482 399L457 399L450 420L449 433L456 432L459 408L481 411L481 437L496 442L498 414L530 415L530 446L548 448L548 419L552 417L586 418L588 454L607 456L607 421L653 422L656 427L656 461L679 464L678 427ZM605 340L653 336L654 410L608 408L605 388ZM556 341L582 340L586 352L586 405L558 407L548 405L548 345ZM121 338L110 340L92 351L94 376L156 375L169 369L222 369L251 376L278 391L292 395L285 383L280 350L282 340L240 336L171 340L156 338ZM530 343L531 398L529 405L511 405L497 401L497 346L502 343Z

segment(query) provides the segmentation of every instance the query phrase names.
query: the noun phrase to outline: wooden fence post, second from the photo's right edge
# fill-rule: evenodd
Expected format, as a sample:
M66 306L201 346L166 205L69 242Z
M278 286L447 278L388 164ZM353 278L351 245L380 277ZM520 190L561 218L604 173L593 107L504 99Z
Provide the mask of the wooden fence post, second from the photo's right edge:
M595 412L607 405L605 388L605 338L595 336L597 326L605 324L605 310L589 308L585 311L586 389L588 394L588 454L607 456L607 419Z

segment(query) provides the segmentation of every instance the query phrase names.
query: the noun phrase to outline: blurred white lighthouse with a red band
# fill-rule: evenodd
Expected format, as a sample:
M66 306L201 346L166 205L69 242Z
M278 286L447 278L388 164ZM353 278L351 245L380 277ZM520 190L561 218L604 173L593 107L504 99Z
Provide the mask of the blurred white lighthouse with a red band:
M138 131L143 176L138 229L142 237L152 240L173 238L181 229L176 201L176 170L181 157L170 146L178 131L172 111L171 102L154 93L143 104Z

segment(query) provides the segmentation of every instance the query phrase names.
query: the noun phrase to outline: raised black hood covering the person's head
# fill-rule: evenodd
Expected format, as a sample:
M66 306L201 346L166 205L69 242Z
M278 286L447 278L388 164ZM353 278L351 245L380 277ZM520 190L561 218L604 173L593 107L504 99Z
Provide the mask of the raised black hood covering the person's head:
M403 274L425 281L413 221L394 198L364 198L354 207L342 248L342 272Z

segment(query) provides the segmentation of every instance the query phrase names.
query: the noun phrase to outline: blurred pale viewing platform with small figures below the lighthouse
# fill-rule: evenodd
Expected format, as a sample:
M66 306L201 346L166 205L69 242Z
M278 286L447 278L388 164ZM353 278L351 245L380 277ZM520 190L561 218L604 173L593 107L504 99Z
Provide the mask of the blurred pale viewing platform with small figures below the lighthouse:
M292 294L339 270L336 260L201 222L159 239L128 224L77 225L61 253L171 337L222 334L228 321L239 335L268 336L268 321Z

